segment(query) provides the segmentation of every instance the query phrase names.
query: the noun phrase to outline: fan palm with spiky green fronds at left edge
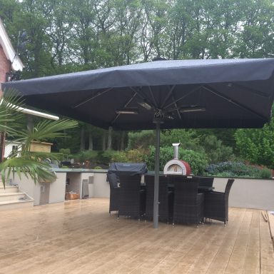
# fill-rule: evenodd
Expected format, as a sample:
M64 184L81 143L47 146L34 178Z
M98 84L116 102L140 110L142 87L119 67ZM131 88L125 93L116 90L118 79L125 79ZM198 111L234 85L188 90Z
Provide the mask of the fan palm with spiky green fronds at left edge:
M22 175L31 178L34 183L39 181L54 181L55 174L51 171L51 166L46 159L53 159L52 153L31 151L31 142L46 141L49 138L64 138L64 131L67 128L74 128L78 125L76 121L40 121L31 130L20 128L20 116L24 115L18 111L23 106L23 102L15 91L4 92L0 101L0 132L9 137L16 138L19 142L18 151L14 151L9 157L0 163L1 180L5 186L5 178L9 178L11 173L16 173L19 178ZM19 129L20 128L20 129ZM2 138L3 139L3 138ZM2 144L4 145L4 144Z

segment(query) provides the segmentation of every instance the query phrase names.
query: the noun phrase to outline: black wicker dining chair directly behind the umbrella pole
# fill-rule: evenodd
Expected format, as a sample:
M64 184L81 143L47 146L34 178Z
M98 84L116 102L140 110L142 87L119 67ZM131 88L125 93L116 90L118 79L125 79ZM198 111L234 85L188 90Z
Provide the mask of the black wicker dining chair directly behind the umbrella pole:
M146 220L153 219L154 176L146 175ZM173 216L173 191L168 191L168 176L159 176L158 220L171 222Z

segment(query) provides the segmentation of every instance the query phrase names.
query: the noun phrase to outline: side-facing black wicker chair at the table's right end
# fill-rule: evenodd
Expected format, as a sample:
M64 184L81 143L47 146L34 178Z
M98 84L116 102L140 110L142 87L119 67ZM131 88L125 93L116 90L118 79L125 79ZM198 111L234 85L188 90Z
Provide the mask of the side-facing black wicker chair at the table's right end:
M228 222L228 197L234 179L228 179L225 192L210 191L205 193L205 219Z

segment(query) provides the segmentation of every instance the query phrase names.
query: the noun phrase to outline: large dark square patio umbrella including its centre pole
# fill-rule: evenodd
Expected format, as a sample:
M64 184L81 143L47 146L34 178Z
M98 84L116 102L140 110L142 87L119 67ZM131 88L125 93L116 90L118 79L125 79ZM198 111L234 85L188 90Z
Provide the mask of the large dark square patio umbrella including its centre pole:
M260 128L270 120L274 59L155 61L3 83L29 106L118 130Z

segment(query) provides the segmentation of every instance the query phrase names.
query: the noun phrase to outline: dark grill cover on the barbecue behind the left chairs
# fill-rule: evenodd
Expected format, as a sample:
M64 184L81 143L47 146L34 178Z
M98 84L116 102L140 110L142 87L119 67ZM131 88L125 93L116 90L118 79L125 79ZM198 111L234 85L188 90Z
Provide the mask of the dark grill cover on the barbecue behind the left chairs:
M117 176L121 174L133 176L147 172L146 163L111 163L108 169L108 174L115 173Z

